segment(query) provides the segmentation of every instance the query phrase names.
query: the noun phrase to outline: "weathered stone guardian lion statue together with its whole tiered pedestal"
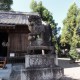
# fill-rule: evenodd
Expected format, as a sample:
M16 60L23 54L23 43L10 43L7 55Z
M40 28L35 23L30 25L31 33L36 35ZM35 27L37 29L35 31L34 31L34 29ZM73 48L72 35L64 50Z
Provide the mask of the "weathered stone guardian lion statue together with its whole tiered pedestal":
M30 44L25 55L23 77L25 80L59 80L63 76L63 68L58 66L50 25L43 24L40 16L31 15L28 27Z

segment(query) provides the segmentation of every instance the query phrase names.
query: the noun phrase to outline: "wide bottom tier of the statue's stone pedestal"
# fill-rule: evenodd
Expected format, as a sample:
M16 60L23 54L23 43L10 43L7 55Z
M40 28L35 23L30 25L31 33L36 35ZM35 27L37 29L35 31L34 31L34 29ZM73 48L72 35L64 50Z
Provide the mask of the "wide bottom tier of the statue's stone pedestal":
M63 76L59 66L48 68L29 68L22 70L21 80L58 80Z

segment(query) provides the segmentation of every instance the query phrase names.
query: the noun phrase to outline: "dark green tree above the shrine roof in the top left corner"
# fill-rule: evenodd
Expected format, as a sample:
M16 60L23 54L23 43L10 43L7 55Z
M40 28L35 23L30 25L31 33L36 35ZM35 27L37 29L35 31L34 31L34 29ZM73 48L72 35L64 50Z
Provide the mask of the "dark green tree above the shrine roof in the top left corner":
M0 0L0 10L9 11L12 4L13 0Z

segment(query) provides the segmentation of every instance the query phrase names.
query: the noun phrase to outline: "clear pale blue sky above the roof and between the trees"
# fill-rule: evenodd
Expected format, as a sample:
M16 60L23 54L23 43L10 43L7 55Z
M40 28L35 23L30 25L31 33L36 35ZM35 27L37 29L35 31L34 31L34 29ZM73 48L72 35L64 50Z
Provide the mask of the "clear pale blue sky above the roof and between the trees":
M58 27L63 27L63 20L66 18L69 7L76 2L80 8L80 0L36 0L42 1L43 5L53 14L53 19L58 23ZM30 12L31 0L13 0L12 9L14 11Z

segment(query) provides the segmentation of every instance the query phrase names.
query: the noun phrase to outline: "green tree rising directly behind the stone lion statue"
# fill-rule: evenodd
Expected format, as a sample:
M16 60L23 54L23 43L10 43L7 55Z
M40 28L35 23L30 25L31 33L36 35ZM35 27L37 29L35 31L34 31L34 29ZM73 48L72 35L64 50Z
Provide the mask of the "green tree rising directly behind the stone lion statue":
M51 25L51 28L53 29L53 41L56 39L55 36L57 35L57 23L55 23L52 13L48 11L47 8L45 8L40 1L37 3L35 0L32 0L30 8L33 12L38 12L42 18L43 21L49 23ZM56 41L56 40L55 40Z

